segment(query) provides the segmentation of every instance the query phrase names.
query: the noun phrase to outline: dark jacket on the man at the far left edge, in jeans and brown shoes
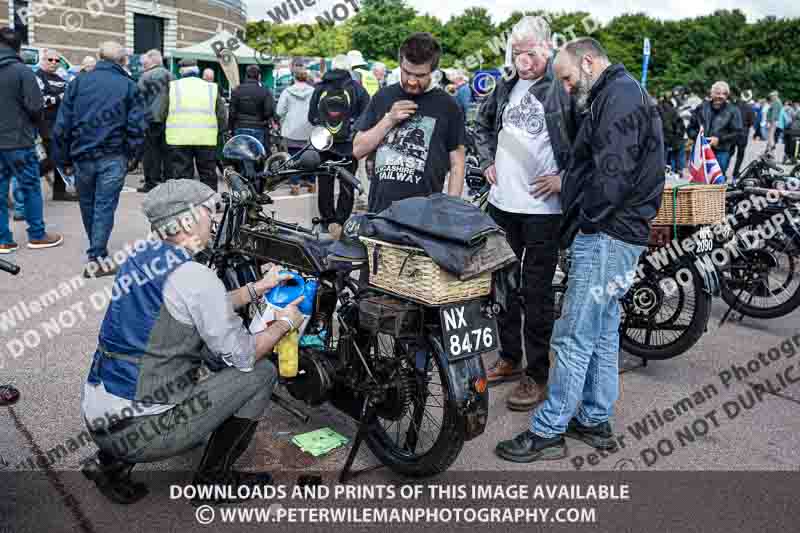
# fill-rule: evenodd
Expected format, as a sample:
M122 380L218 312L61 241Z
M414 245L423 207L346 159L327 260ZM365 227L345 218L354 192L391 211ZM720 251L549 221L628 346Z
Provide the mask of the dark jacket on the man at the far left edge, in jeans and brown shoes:
M42 124L42 91L36 75L14 50L0 45L0 150L32 148Z

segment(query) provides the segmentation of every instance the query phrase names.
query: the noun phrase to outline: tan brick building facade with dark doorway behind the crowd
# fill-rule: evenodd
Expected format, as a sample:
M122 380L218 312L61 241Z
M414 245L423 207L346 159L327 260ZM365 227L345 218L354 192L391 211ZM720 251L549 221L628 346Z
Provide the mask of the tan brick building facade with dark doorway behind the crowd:
M135 54L206 41L244 31L244 0L0 0L0 26L20 29L25 46L55 48L71 63L97 55L103 41Z

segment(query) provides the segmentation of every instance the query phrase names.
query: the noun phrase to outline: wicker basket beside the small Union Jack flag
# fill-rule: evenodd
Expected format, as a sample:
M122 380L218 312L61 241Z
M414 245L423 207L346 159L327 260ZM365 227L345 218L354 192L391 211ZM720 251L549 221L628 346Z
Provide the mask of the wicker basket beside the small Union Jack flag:
M678 189L676 197L672 187L665 187L653 225L718 224L725 220L725 189L725 185L687 185Z

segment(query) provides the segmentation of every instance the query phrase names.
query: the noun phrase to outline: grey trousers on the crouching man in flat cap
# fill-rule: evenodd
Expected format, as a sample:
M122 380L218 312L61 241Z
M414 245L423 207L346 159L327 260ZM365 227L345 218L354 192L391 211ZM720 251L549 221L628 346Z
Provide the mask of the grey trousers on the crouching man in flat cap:
M275 365L258 361L252 372L226 368L198 383L169 411L132 419L107 433L92 433L97 447L123 461L149 463L180 455L199 444L231 416L259 419L278 380Z

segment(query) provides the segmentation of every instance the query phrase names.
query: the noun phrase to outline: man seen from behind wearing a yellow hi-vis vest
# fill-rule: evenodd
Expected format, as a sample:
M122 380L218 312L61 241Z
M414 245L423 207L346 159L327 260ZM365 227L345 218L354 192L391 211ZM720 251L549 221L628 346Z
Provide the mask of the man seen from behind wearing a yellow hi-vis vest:
M193 179L197 165L200 181L217 190L217 134L225 124L217 85L200 78L197 61L184 59L180 79L170 82L162 106L167 116L169 179Z

